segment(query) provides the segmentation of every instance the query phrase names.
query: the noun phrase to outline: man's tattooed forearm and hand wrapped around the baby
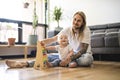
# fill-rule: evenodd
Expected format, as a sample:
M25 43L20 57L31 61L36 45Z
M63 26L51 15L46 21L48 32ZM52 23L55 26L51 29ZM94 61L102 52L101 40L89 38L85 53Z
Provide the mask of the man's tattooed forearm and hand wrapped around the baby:
M81 43L80 45L81 45L80 46L80 48L81 48L80 51L77 54L71 56L71 61L79 58L82 54L86 53L89 44Z

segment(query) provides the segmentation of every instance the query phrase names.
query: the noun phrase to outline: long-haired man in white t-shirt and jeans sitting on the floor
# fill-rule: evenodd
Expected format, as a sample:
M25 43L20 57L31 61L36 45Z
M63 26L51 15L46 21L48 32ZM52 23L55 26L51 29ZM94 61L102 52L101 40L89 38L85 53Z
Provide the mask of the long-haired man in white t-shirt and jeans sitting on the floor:
M91 32L86 26L86 16L82 11L78 11L73 16L72 26L60 31L60 33L52 38L43 40L46 45L52 42L56 42L60 34L66 34L68 36L69 44L72 46L74 55L67 57L64 62L61 61L61 66L77 67L77 66L90 66L93 62L93 56L91 52ZM54 59L52 57L51 59ZM9 67L16 67L18 64L20 67L33 66L34 62L16 62L6 61ZM11 66L12 64L15 64ZM18 66L17 66L18 67Z

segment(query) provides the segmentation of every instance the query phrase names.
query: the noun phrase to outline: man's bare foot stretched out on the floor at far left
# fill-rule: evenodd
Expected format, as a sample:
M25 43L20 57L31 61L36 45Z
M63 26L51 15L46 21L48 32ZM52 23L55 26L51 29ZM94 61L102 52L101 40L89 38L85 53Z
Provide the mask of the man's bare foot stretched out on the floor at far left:
M23 68L27 66L26 62L17 62L13 60L6 60L6 64L10 68Z

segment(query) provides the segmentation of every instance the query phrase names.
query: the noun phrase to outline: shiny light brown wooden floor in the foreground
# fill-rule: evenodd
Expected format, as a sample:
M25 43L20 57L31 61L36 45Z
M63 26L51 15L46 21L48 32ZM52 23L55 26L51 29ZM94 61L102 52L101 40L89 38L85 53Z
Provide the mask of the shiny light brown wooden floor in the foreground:
M46 70L9 69L4 62L0 61L0 80L120 80L120 62L94 61L92 67Z

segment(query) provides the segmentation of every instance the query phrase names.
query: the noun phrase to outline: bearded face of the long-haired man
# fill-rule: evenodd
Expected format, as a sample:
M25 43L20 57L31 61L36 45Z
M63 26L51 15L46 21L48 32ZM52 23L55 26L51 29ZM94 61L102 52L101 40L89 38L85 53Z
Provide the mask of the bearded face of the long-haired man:
M73 27L72 27L72 29L74 30L74 32L78 32L80 27L82 26L82 24L83 24L82 17L79 14L76 14L73 17Z

